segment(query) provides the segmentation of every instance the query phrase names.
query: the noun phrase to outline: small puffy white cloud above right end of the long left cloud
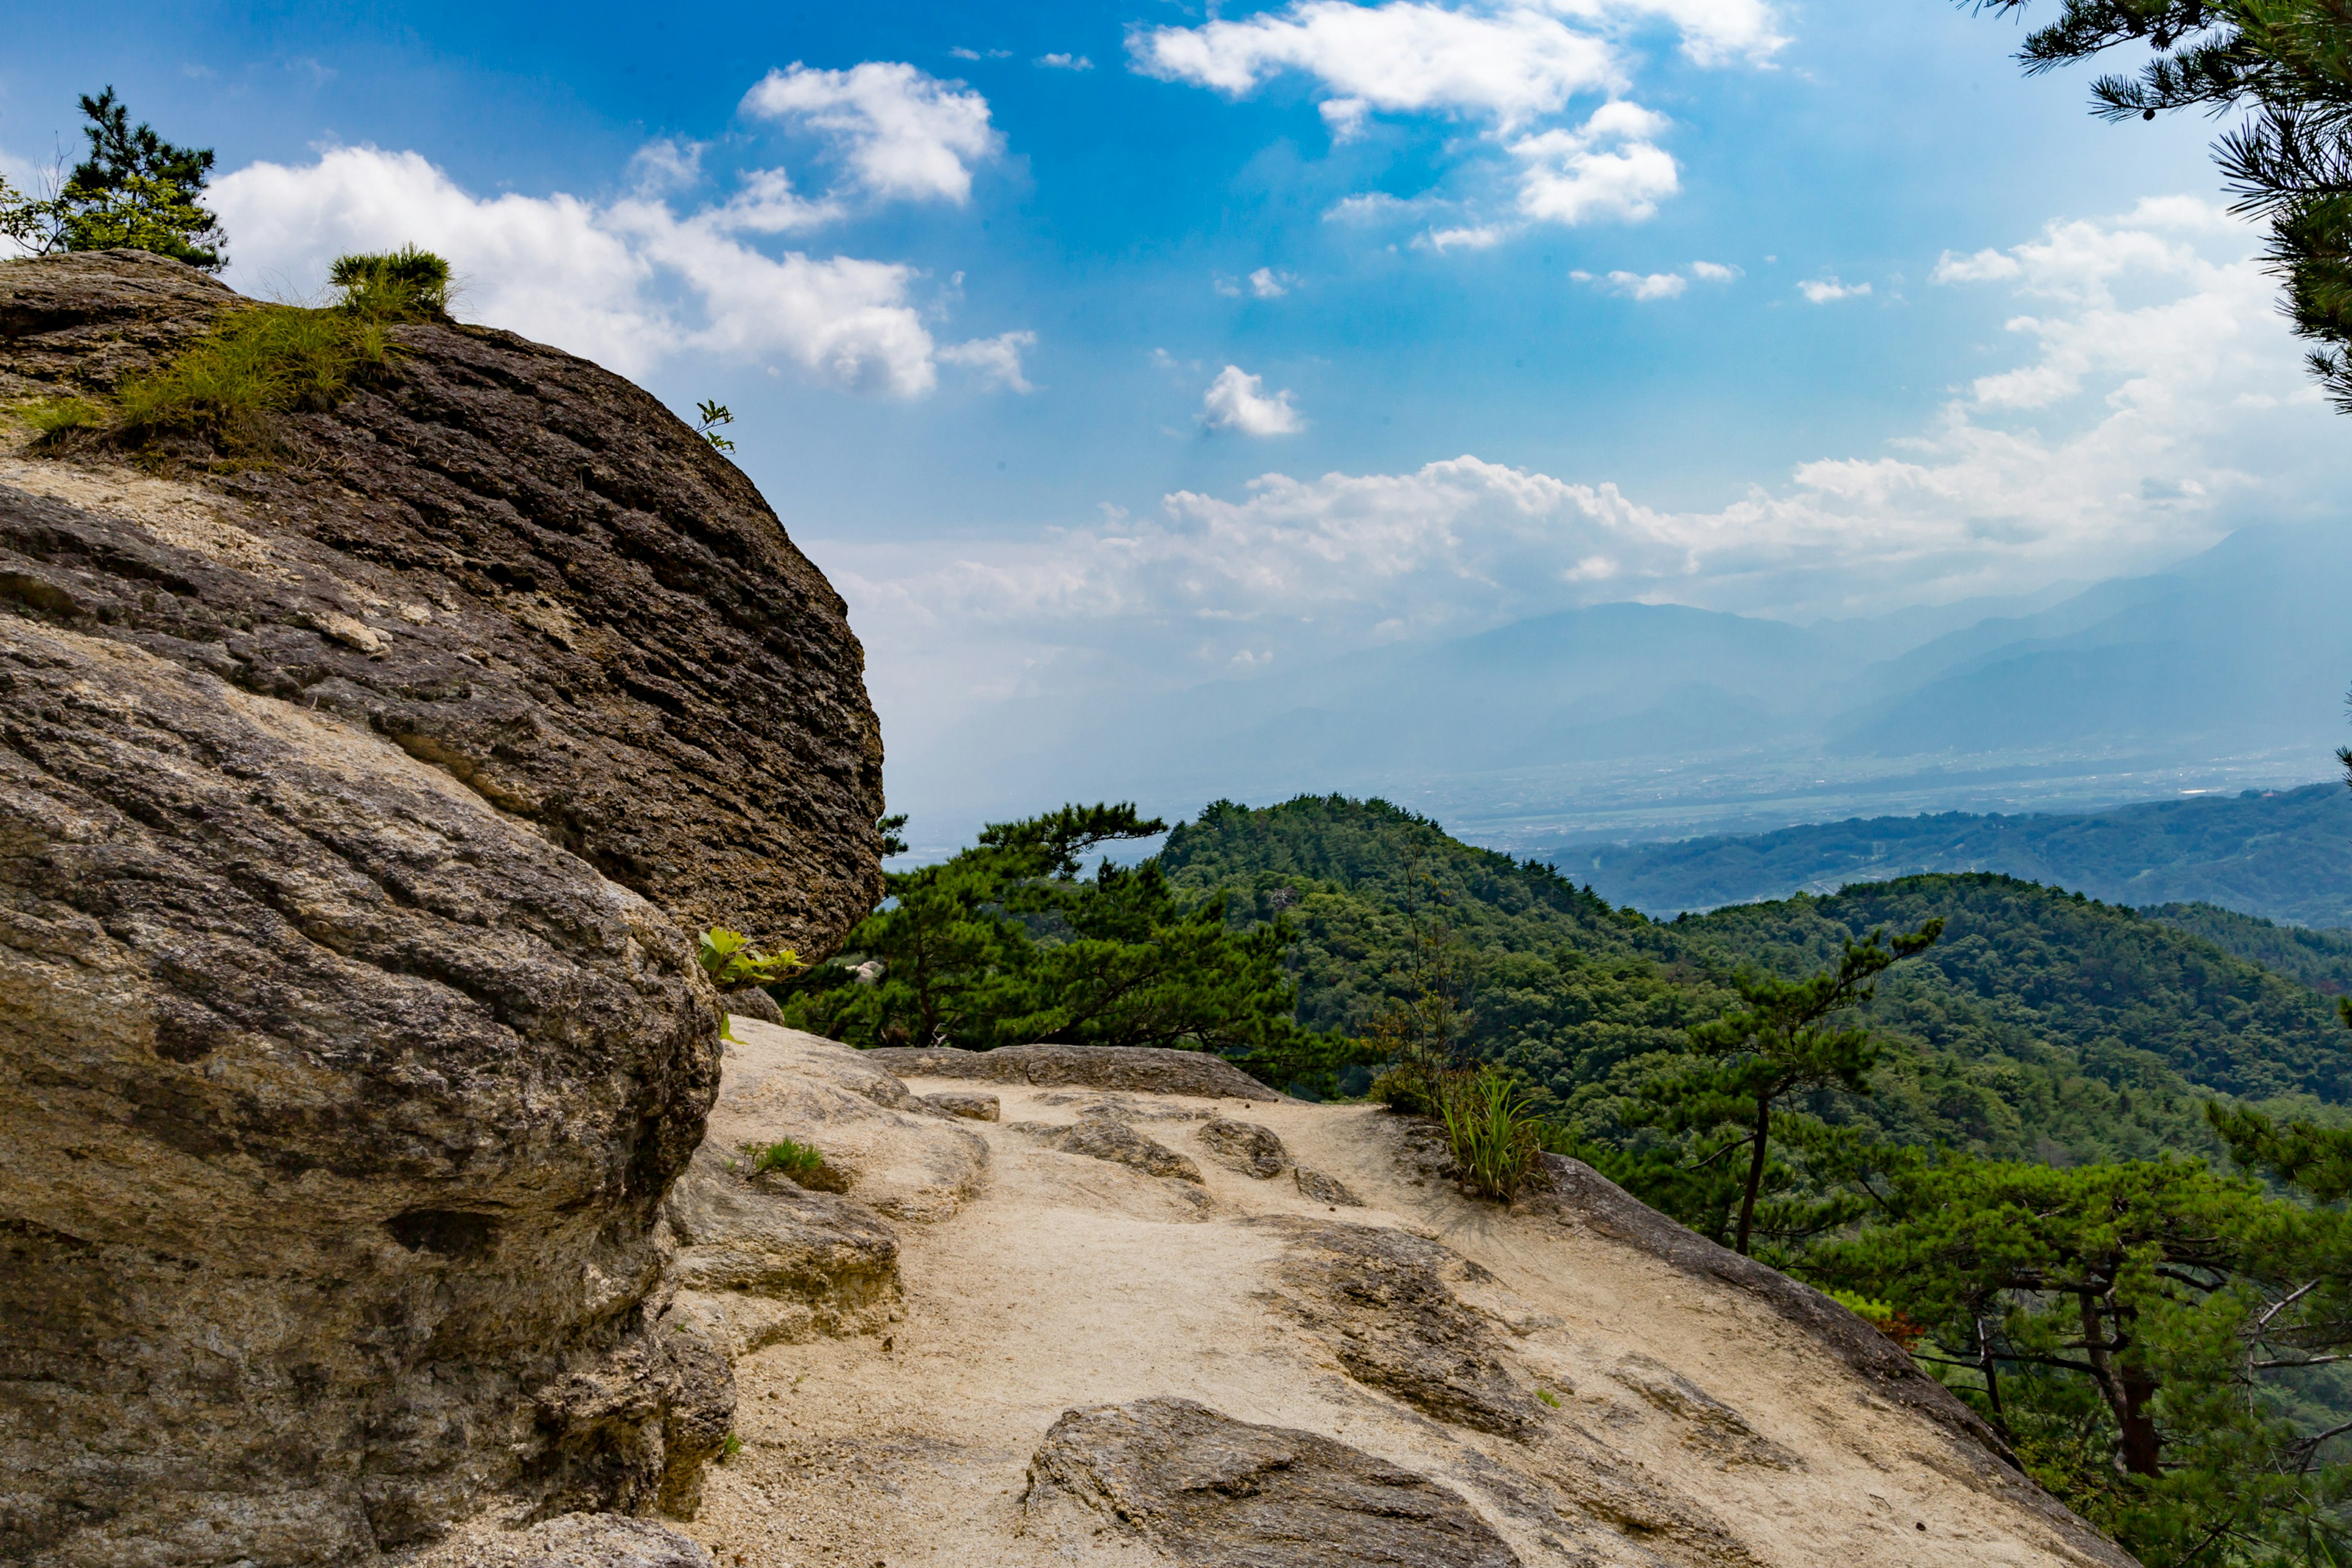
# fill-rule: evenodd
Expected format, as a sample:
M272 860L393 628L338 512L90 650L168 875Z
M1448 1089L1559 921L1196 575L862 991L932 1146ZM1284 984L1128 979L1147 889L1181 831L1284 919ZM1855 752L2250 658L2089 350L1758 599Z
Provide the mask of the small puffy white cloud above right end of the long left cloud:
M807 125L844 155L856 181L880 197L971 200L971 169L1004 150L988 125L988 99L903 61L849 71L793 63L743 94L743 113Z

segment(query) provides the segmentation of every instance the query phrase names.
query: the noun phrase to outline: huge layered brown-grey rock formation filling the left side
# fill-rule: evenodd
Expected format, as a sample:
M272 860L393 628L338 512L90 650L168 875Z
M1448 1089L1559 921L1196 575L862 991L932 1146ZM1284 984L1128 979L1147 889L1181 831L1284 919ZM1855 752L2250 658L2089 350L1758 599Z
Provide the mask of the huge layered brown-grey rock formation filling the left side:
M0 414L245 308L0 263ZM369 1563L684 1509L689 931L877 893L842 602L637 388L470 327L266 463L0 451L0 1559ZM0 425L0 435L7 428Z

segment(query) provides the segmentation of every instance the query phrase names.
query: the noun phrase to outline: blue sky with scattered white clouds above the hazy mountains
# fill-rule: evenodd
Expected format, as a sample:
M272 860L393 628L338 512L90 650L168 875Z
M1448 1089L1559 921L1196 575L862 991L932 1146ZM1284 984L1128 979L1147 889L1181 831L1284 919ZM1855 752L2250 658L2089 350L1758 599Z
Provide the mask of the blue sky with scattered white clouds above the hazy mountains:
M1940 0L120 16L12 16L0 169L113 82L219 148L240 287L416 240L731 404L894 752L1569 604L2032 592L2347 477L2211 122Z

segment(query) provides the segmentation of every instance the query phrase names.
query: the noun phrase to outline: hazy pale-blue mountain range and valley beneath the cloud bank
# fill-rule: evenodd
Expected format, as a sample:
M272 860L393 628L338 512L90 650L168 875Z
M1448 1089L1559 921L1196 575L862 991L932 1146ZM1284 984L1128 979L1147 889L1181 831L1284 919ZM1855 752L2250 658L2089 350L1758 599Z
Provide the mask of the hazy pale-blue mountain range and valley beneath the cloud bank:
M1875 621L1599 604L1082 712L995 705L894 755L891 804L927 844L1077 797L1178 818L1341 790L1529 851L2293 785L2345 738L2347 602L2352 529L2265 524L2152 576Z

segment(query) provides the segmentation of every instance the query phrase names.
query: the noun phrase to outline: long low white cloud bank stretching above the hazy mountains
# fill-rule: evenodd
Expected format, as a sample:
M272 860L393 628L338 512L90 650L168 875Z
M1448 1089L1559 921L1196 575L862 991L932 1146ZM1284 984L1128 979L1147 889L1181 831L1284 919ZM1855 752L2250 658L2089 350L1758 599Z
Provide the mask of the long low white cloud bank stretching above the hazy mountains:
M2218 209L2053 223L1969 287L2051 301L2011 369L1891 449L1804 461L1719 508L1479 456L1409 473L1268 473L1157 515L1018 543L826 548L877 679L941 656L1018 689L1063 656L1181 679L1611 599L1790 618L2152 569L2244 515L2340 494L2352 456L2274 317L2258 235ZM1218 386L1265 400L1228 367ZM1061 679L1061 677L1054 677Z

